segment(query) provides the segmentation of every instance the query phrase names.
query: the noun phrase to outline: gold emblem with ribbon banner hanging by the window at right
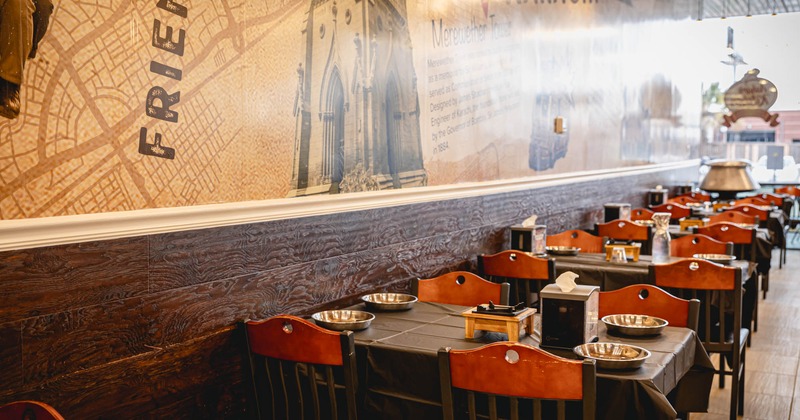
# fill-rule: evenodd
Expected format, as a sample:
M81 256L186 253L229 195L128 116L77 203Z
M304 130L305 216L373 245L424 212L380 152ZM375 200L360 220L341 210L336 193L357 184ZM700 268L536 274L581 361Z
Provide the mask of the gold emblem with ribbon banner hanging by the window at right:
M725 92L725 106L731 114L723 116L722 125L730 127L744 117L761 118L771 127L779 124L778 114L769 113L769 108L778 99L778 88L769 80L758 77L758 73L758 69L748 71Z

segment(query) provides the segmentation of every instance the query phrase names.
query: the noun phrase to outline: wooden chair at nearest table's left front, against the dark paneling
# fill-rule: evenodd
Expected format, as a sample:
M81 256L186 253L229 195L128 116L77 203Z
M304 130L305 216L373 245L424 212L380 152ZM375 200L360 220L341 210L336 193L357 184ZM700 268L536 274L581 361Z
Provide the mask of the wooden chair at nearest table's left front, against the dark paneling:
M357 418L352 331L328 331L291 315L243 327L258 418Z

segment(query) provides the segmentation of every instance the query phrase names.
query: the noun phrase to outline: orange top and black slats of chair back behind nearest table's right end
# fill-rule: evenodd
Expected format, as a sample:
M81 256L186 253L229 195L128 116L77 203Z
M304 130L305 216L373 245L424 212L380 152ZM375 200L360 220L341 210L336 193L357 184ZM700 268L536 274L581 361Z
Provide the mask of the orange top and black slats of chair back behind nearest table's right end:
M741 348L742 269L706 260L687 258L667 264L649 266L650 280L658 287L691 299L699 299L703 317L700 340L710 352L734 351ZM716 296L712 292L718 292ZM732 328L726 313L732 309ZM728 331L734 331L731 337ZM734 359L738 360L738 359Z

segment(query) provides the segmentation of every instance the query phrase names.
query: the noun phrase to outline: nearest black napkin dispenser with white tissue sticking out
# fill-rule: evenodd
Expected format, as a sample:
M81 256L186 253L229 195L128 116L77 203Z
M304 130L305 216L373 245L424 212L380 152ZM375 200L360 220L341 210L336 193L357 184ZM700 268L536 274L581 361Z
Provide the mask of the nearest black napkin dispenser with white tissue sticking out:
M600 288L577 285L563 292L548 284L542 299L542 347L572 349L597 340L597 315Z

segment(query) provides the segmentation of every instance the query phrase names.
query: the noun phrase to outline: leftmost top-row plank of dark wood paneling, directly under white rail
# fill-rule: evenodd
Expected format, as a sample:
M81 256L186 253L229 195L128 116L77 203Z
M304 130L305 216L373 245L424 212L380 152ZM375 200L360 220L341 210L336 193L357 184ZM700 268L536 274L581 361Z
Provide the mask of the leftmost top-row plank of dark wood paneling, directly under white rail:
M147 238L0 253L0 323L143 296Z

